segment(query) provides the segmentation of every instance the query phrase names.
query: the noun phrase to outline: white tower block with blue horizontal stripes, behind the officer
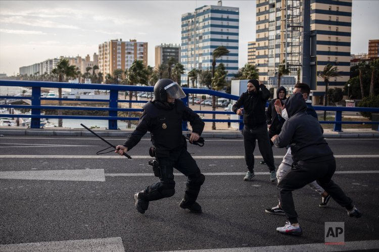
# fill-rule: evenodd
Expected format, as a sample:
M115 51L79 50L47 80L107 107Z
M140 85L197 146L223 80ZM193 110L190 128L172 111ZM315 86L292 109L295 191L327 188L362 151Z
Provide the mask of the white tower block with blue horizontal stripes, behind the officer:
M192 69L212 69L212 52L223 45L230 52L216 60L225 65L227 80L238 73L239 8L203 6L181 16L181 64L185 68L182 83ZM216 67L217 67L216 66Z

